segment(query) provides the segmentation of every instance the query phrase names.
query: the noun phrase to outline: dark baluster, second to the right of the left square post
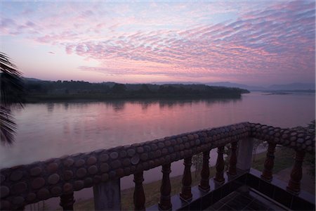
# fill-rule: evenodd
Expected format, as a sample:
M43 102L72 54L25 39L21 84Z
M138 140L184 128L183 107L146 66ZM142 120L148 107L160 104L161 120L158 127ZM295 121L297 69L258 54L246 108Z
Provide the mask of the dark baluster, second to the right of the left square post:
M171 184L169 174L171 172L171 163L162 165L162 186L160 187L159 210L171 210Z

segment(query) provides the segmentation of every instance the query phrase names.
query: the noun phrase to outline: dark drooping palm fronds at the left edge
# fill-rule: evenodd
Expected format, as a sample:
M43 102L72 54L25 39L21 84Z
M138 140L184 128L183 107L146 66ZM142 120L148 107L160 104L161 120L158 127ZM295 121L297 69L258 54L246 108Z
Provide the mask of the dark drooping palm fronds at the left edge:
M11 106L13 103L20 103L20 106L22 106L24 83L22 73L11 62L10 58L2 52L0 52L0 70L0 138L1 143L13 143L16 127L11 115Z

